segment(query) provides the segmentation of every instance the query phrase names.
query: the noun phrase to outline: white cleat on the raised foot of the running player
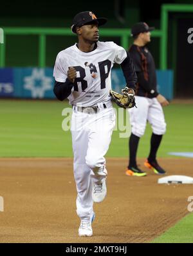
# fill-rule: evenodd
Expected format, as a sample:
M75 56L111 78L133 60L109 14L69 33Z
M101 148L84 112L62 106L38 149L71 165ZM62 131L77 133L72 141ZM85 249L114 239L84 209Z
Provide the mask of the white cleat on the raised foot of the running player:
M106 178L101 182L93 182L93 202L102 202L107 195Z

